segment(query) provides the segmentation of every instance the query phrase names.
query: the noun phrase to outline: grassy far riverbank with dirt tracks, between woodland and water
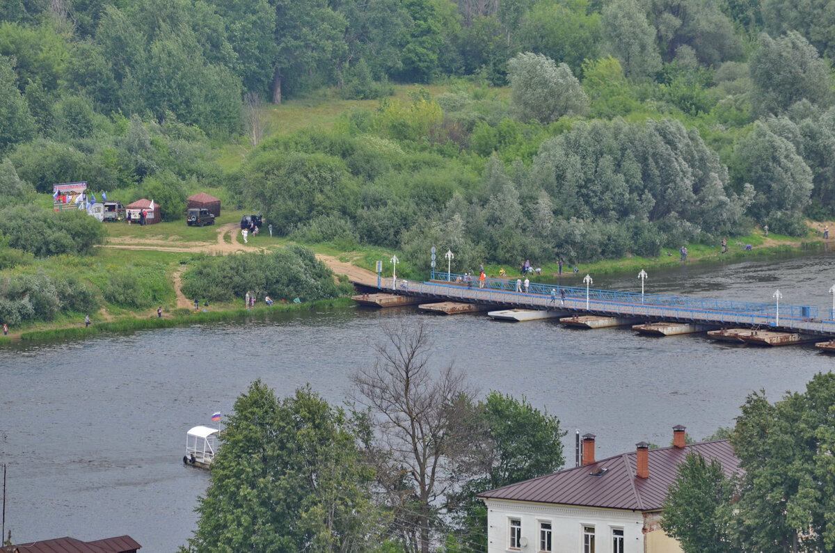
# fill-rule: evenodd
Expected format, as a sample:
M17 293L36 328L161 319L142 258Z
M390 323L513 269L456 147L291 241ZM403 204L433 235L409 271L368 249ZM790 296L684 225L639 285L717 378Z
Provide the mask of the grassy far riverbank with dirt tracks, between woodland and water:
M89 313L92 320L90 327L84 327L83 312L63 313L50 322L29 322L10 327L8 337L0 337L0 343L11 340L53 340L94 336L102 332L122 332L141 328L172 327L181 324L213 322L221 319L234 320L240 317L266 316L270 310L298 310L310 307L344 307L351 305L347 297L335 300L322 300L293 304L292 298L274 298L276 305L264 307L263 298L259 298L257 307L247 311L241 308L240 299L229 302L201 302L200 311L195 312L194 299L185 297L180 291L181 279L195 262L207 255L226 255L230 253L267 253L291 244L286 239L271 238L265 231L259 236L250 237L247 244L240 235L241 211L225 211L215 226L203 228L186 226L185 221L159 223L154 226L135 226L122 223L105 224L108 233L105 244L91 256L56 256L43 260L34 260L27 266L7 269L0 276L12 276L15 273L33 273L44 271L46 274L68 274L80 281L89 282L94 289L106 291L109 276L114 272L129 269L139 279L139 286L150 299L146 307L129 307L124 302L112 302L106 293L97 297L99 307ZM809 236L802 240L788 236L770 234L762 236L759 231L747 236L731 239L728 252L721 254L719 245L687 244L686 263L740 261L743 259L766 259L775 254L785 254L822 249L824 241L815 236L810 227ZM750 250L746 250L747 245ZM416 280L428 279L428 263L418 264L415 260L405 259L402 252L384 251L382 248L367 247L359 250L344 251L334 244L308 244L316 251L320 259L336 268L337 273L350 271L347 267L356 266L357 271L373 271L377 260L383 260L384 274L390 274L389 258L397 255L398 276ZM668 255L669 254L669 255ZM428 259L428 255L427 255ZM423 260L421 260L423 261ZM557 262L543 263L531 260L532 264L542 268L542 276L534 281L549 280L556 276ZM585 274L637 273L640 269L664 268L680 265L677 250L665 250L661 256L643 258L626 256L618 260L604 260L578 266L576 277ZM438 265L438 268L441 268ZM516 267L485 266L489 276L498 277L504 268L509 275L516 274ZM461 269L460 271L477 271ZM574 276L573 267L563 266L564 277ZM342 277L342 281L347 279ZM285 299L286 303L281 300ZM162 307L163 317L158 318L156 309Z

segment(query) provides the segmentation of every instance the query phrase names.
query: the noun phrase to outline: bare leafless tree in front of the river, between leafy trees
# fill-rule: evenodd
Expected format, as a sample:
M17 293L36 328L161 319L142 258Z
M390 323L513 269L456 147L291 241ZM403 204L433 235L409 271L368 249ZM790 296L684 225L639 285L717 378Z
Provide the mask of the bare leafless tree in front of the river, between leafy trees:
M373 344L377 361L353 376L357 403L369 409L375 430L371 459L378 482L395 511L408 550L427 553L436 512L455 484L466 440L458 432L474 392L463 373L429 363L431 332L422 321L384 325Z

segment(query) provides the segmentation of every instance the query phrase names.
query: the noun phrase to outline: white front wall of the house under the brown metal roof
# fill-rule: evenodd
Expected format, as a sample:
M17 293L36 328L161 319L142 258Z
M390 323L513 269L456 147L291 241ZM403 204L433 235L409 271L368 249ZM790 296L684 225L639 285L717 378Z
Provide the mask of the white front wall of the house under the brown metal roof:
M549 522L553 553L583 553L583 528L595 527L595 553L612 552L612 530L624 530L624 553L644 553L644 516L622 510L487 500L488 553L539 552L539 522ZM527 545L509 548L511 519L522 521ZM524 540L523 540L524 541Z

